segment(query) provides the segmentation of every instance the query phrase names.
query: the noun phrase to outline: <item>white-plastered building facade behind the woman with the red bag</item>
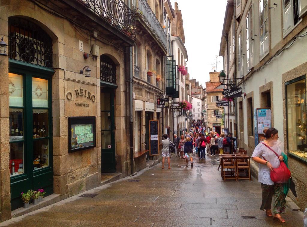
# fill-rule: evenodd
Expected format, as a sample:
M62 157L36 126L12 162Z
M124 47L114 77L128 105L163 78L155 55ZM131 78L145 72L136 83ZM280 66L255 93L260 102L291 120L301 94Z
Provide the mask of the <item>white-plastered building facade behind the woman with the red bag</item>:
M234 74L228 78L242 78L237 80L237 87L243 88L244 94L235 103L239 147L251 155L263 139L258 111L265 110L270 127L279 131L296 184L297 200L291 192L288 196L301 209L307 201L306 25L305 1L277 5L272 1L228 1L223 33L231 30L235 48L227 51L221 45L220 49L229 56L225 65L232 64L230 58L235 64ZM221 43L226 43L223 39Z

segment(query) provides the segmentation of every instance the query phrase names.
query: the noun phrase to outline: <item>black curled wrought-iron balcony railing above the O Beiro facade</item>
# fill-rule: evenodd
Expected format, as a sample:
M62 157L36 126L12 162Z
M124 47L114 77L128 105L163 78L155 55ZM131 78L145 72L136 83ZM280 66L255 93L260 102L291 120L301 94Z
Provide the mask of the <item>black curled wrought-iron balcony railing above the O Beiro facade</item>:
M135 40L135 14L121 0L78 0L99 17Z

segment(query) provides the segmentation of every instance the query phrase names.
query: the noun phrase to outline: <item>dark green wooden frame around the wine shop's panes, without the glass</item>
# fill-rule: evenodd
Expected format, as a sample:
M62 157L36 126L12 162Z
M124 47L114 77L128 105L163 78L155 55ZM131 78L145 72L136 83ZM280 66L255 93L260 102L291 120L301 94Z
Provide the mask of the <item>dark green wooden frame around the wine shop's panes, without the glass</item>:
M23 76L23 107L13 107L23 109L23 140L10 143L23 142L23 165L24 173L10 178L11 209L22 206L21 192L27 190L37 190L43 188L46 195L53 193L53 160L52 160L52 87L51 77L54 74L52 68L40 65L9 59L9 72ZM33 108L32 99L32 78L41 78L48 81L48 108ZM48 136L33 138L33 110L48 110ZM33 170L33 143L38 140L48 139L48 166Z

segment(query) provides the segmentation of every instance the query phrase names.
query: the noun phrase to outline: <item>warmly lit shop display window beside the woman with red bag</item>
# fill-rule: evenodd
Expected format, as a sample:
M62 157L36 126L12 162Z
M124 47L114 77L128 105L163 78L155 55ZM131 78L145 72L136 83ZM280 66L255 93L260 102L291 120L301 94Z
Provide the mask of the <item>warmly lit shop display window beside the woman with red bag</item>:
M305 76L286 83L288 154L307 162Z

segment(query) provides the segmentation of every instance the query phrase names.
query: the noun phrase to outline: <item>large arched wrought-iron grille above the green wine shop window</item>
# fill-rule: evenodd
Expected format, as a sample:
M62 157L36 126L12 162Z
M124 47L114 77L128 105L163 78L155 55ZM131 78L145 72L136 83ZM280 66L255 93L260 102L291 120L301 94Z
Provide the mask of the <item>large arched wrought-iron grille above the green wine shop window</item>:
M38 25L24 18L9 18L9 57L52 67L52 39Z

